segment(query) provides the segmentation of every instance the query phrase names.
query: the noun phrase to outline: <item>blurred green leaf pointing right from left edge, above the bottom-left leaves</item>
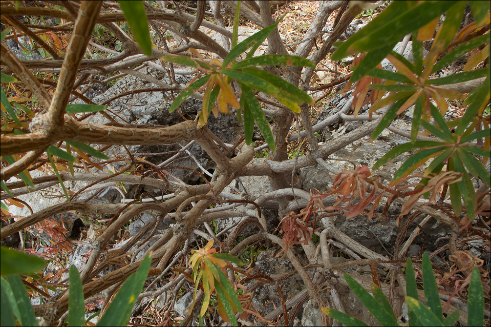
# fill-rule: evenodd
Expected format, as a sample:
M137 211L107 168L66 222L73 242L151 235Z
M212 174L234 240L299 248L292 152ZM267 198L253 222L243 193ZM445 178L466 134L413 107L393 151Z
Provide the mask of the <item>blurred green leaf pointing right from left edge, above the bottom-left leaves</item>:
M24 252L0 247L0 274L5 275L27 275L39 270L43 270L48 264L38 256Z

